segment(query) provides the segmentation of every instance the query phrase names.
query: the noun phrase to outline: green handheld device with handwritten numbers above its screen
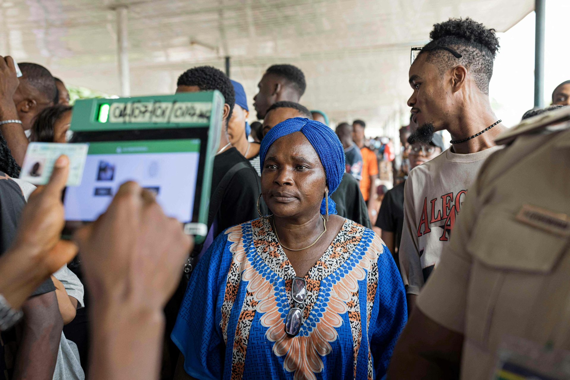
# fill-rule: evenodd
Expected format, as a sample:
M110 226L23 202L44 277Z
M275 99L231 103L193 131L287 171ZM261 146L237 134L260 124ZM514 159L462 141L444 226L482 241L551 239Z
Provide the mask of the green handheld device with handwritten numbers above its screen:
M223 104L218 91L76 101L71 143L89 149L81 184L63 194L63 235L97 219L122 183L136 181L201 243Z

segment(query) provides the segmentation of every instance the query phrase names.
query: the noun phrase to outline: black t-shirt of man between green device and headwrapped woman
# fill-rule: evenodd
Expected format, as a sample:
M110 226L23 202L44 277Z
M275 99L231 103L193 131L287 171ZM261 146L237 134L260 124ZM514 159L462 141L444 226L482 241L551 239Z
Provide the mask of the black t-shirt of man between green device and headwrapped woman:
M229 185L223 191L222 201L218 205L210 203L210 209L219 207L217 213L218 225L216 231L214 231L214 236L217 236L228 227L259 218L257 198L261 193L260 179L249 161L234 147L225 150L214 158L210 197L214 195L223 176L238 162L246 162L247 167L233 175ZM267 208L263 200L260 202L262 213L267 214Z

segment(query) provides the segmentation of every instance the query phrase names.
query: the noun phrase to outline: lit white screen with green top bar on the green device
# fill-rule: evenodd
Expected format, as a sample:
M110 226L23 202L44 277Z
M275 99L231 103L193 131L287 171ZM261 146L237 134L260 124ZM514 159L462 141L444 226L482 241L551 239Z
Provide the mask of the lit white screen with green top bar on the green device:
M80 186L68 187L66 220L91 221L104 213L127 181L156 193L164 213L192 220L200 140L91 142Z

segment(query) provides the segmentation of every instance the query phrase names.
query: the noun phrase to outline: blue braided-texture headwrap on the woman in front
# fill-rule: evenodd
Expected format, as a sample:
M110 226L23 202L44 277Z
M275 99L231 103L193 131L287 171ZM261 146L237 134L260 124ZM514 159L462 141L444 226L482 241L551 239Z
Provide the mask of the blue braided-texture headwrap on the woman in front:
M336 133L323 123L303 119L302 117L294 117L293 119L282 121L271 128L265 137L263 137L261 146L259 147L261 170L263 171L263 162L265 161L267 150L269 150L275 140L294 132L302 132L319 155L327 177L329 195L328 213L336 214L336 204L330 195L339 187L340 181L343 179L344 171L346 170L344 166L344 149ZM324 197L323 202L321 202L320 212L321 214L327 213Z

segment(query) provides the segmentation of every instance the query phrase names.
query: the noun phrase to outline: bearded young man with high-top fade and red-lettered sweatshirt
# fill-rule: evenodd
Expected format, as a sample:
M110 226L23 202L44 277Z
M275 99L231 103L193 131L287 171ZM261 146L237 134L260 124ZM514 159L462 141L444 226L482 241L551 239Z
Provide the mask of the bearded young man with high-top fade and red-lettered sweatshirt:
M495 31L470 18L450 19L435 24L430 39L412 48L408 105L418 128L411 141L427 144L445 129L452 145L406 181L400 267L409 308L438 264L479 167L500 149L494 137L504 130L488 96L499 48Z

